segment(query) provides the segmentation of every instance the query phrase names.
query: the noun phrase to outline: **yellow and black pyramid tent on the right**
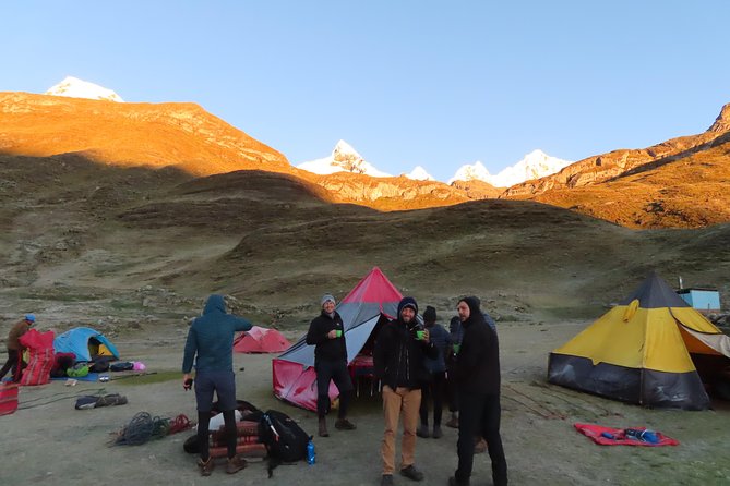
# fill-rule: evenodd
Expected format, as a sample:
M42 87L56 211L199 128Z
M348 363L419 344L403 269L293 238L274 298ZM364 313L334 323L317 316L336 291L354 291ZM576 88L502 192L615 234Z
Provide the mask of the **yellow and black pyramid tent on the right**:
M706 410L709 398L693 359L727 365L730 338L653 272L550 353L548 381L646 406Z

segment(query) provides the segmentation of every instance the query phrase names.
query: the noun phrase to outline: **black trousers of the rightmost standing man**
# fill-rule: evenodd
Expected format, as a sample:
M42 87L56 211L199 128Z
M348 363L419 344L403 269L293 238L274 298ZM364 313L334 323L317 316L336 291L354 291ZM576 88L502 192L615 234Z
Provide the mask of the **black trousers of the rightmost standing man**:
M507 461L504 458L502 437L500 436L500 396L471 394L459 392L458 467L454 477L457 483L466 484L471 477L474 466L474 438L482 436L487 440L487 451L492 460L492 481L494 486L507 484Z

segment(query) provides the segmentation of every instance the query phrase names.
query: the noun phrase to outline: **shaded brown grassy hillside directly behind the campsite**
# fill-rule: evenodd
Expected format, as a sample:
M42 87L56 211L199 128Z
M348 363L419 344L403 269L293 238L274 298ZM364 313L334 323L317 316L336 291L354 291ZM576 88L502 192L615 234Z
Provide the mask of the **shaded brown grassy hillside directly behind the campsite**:
M193 178L79 155L0 168L8 316L139 325L198 313L215 291L264 324L301 324L322 292L344 296L373 266L439 308L475 293L513 320L595 315L650 269L730 297L728 224L637 232L502 199L382 212L288 174Z

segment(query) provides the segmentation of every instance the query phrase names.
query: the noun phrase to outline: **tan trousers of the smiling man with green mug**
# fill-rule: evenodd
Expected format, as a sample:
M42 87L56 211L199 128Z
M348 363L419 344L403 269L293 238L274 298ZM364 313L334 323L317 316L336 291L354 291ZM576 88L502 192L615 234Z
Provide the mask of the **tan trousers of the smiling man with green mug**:
M416 427L420 406L421 390L398 387L394 391L387 385L383 386L383 415L385 416L385 433L381 447L383 474L393 474L395 471L395 433L398 430L400 412L403 412L400 469L408 467L416 462Z

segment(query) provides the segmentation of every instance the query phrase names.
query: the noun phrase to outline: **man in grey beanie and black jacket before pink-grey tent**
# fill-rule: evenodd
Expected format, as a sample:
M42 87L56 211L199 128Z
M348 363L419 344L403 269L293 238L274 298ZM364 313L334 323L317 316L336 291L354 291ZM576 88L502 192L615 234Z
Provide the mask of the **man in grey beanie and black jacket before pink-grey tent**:
M307 344L314 345L314 370L316 373L316 415L320 437L328 437L326 414L330 411L330 381L339 390L339 409L335 428L354 430L355 424L347 420L347 408L352 397L352 380L347 370L347 345L343 318L335 311L335 297L322 296L322 312L312 319L307 332Z

